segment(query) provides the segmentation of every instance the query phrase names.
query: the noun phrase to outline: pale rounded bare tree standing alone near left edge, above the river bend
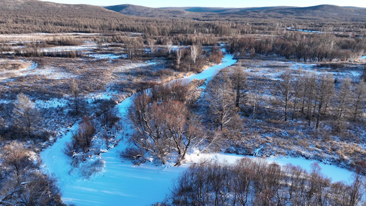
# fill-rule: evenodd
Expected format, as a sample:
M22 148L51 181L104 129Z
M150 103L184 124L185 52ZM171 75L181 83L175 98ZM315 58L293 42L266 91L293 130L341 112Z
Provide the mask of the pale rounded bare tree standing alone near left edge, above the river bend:
M27 133L28 137L31 137L38 128L40 114L30 98L23 93L19 93L16 96L13 114L15 125Z

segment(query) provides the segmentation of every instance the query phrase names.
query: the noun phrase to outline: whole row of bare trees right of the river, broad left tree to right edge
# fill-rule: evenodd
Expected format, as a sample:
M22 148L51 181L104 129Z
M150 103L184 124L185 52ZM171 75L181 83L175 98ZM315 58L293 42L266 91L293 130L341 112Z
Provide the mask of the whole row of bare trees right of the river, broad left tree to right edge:
M366 85L362 80L336 80L332 73L287 69L279 80L267 82L272 88L268 91L272 98L265 100L262 84L247 80L247 76L242 67L224 69L207 85L205 97L210 114L207 117L215 128L236 128L237 121L233 119L238 119L238 111L258 117L263 103L273 108L269 118L285 122L306 120L314 128L327 119L336 133L343 131L348 123L356 124L363 119Z

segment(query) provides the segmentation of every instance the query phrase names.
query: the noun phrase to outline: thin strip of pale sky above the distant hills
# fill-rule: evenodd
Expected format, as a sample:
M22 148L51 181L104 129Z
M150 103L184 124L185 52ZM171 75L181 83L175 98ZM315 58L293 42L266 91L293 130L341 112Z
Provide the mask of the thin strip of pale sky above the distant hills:
M160 7L183 7L183 6L201 6L201 7L225 7L225 8L249 8L264 7L276 5L288 5L306 7L320 4L332 4L340 6L356 6L366 8L365 0L41 0L52 1L56 3L69 4L91 4L91 5L119 5L130 3L134 5L144 5L153 8Z

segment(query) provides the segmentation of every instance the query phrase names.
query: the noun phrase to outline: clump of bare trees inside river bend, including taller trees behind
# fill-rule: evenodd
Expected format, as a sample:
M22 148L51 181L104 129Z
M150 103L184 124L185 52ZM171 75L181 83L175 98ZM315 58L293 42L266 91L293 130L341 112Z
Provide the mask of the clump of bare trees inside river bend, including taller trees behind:
M175 156L179 165L187 151L205 139L198 117L186 106L189 84L176 81L136 94L128 117L135 132L123 157L135 163L146 155L165 163Z

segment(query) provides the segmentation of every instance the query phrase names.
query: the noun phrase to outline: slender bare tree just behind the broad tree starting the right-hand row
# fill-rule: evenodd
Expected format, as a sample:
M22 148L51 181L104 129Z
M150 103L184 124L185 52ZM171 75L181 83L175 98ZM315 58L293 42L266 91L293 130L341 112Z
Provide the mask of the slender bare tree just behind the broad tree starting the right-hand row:
M240 108L240 104L247 101L247 80L247 73L243 71L242 67L233 67L233 71L231 72L231 82L236 95L235 106L237 108Z

